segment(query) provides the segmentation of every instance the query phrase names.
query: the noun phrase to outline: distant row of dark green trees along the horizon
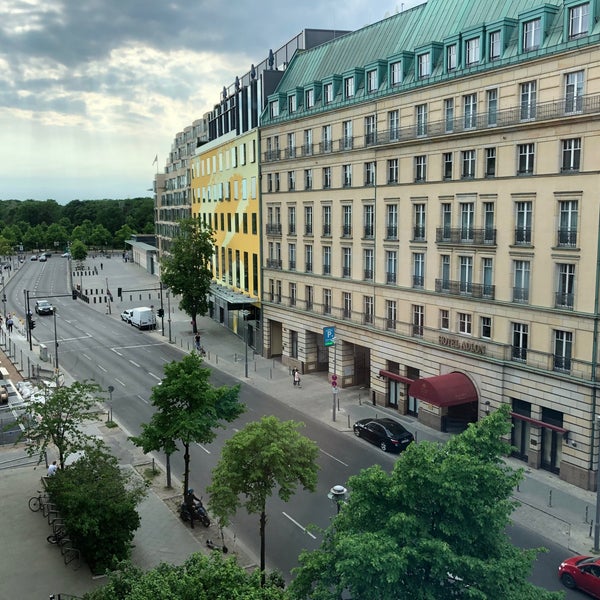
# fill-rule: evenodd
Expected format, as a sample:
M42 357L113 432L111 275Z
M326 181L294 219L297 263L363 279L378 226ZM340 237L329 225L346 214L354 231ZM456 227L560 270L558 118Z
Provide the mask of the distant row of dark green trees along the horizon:
M124 247L132 233L154 233L152 198L127 200L0 201L0 254L20 251L64 252L80 240L90 248Z

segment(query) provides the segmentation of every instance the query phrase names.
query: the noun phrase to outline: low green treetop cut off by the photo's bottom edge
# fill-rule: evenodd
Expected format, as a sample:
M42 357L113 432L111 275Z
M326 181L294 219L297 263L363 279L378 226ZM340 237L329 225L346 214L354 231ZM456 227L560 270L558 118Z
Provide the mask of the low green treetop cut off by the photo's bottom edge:
M192 554L183 565L165 563L143 572L129 562L110 573L108 583L84 595L83 600L147 600L148 598L194 600L285 600L276 583L260 585L258 571L248 573L234 558L218 552Z

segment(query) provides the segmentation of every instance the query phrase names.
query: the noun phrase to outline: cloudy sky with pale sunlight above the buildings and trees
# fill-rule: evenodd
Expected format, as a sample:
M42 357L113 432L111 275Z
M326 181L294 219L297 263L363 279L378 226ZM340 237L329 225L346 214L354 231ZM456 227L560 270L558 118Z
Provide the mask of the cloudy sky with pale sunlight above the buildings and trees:
M303 29L424 0L1 0L0 200L150 195L175 134Z

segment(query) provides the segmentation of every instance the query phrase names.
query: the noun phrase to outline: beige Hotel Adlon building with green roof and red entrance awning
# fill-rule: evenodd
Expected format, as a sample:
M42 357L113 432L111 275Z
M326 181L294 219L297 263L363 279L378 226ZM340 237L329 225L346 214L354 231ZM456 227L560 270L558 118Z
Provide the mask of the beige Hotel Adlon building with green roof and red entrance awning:
M509 403L515 456L592 489L600 5L523 4L294 57L261 121L264 352L442 430Z

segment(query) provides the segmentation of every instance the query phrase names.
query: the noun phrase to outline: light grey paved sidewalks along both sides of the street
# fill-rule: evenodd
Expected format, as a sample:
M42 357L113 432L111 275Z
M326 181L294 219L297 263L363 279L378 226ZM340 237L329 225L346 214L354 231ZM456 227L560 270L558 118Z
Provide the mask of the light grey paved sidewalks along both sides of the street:
M85 289L98 290L97 294L90 295L89 305L106 318L120 319L122 310L136 305L160 306L157 279L137 265L124 263L117 256L111 259L97 258L89 262L98 266L98 275L86 276L81 284ZM103 263L102 269L99 267L100 262ZM94 269L88 272L93 274ZM122 299L116 295L118 287L124 289ZM114 299L110 305L105 303L106 288L111 291ZM126 291L128 288L136 291ZM189 317L178 309L177 299L167 298L163 293L163 302L166 313L165 330L163 332L158 329L147 335L165 343L172 343L182 353L190 352L193 347L193 335ZM415 418L373 406L368 390L363 388L346 388L339 391L334 421L333 394L326 373L304 374L302 387L298 389L292 385L290 370L280 361L254 355L252 349L248 349L246 378L247 349L244 341L208 317L199 319L198 326L202 335L202 345L207 350L205 361L208 366L217 367L246 385L269 394L274 401L284 402L338 431L350 431L354 421L363 417L391 415L412 431L417 441L443 442L449 437L448 434L424 427ZM0 345L3 349L6 348L4 342L5 339L0 335ZM20 363L17 366L23 370L26 370L30 363L43 364L46 369L51 369L52 357L50 364L42 363L37 344L34 344L33 352L30 353L28 345L18 332L13 333L12 343L17 348L17 352L13 352L13 361ZM15 356L19 360L15 360ZM9 370L11 378L18 377L15 366L8 363L0 353L1 366ZM68 375L66 381L70 383ZM148 460L148 457L144 457L141 451L128 441L127 432L120 428L108 429L101 423L95 427L95 434L104 438L121 464L140 465ZM78 571L71 571L69 567L65 567L60 552L46 543L48 524L41 515L34 514L27 508L27 500L39 489L39 478L45 469L43 466L37 469L32 465L15 466L19 463L8 462L14 460L19 453L23 455L22 449L13 446L0 447L0 471L4 484L0 489L4 509L0 511L0 530L3 532L5 548L11 548L11 559L0 561L0 600L25 596L43 598L50 593L59 592L81 595L101 584L101 581L94 580L87 567ZM512 458L508 459L508 463L514 468L526 466ZM7 469L8 465L13 468ZM173 486L176 489L175 481ZM135 538L133 559L144 569L152 568L163 560L181 563L194 551L206 551L204 542L207 535L218 540L217 533L213 531L202 532L196 528L192 534L169 507L169 499L165 501L166 496L168 494L151 491L140 506L142 526ZM595 513L595 493L566 484L558 476L547 471L526 470L525 479L515 491L514 497L521 502L521 506L513 514L515 522L564 545L573 553L591 553L593 538L590 537L590 521ZM245 549L239 546L239 542L234 549L242 564L256 564L256 557L251 557L245 552ZM32 556L36 557L33 578ZM24 590L24 586L27 590Z

